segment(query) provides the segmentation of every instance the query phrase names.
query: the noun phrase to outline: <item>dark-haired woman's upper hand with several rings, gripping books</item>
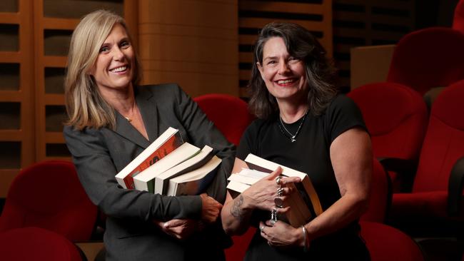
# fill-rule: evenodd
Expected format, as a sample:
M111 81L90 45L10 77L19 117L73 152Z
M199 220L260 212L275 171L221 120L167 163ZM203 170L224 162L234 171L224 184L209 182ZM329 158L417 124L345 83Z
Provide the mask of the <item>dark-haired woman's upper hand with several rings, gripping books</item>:
M251 208L258 208L261 210L273 210L276 208L276 198L280 198L281 202L285 202L286 195L291 193L291 188L286 188L287 183L298 183L298 177L281 177L280 185L276 183L276 178L281 175L282 168L278 167L273 173L262 178L258 182L251 185L250 188L243 191L242 195L248 199ZM283 194L278 195L277 190L283 188ZM284 213L288 208L278 208L278 213Z

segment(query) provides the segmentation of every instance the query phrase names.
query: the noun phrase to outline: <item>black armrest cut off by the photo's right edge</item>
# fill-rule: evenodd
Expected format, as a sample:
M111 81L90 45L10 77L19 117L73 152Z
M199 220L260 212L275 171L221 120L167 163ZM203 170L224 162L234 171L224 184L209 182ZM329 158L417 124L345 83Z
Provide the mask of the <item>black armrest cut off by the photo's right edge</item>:
M453 165L448 181L448 215L457 216L460 213L464 188L464 157Z

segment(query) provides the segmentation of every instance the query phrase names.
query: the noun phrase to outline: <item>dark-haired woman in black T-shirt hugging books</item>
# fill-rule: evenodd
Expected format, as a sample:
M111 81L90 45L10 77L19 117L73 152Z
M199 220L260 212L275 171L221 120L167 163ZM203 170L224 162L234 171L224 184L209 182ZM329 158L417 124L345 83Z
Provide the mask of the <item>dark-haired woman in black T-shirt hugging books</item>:
M278 178L278 168L236 198L227 195L224 230L237 235L259 227L246 260L370 260L358 224L368 204L370 137L355 103L333 86L326 51L302 26L271 23L253 59L249 106L258 119L243 134L233 173L247 168L248 153L300 170L324 211L301 227L269 220L269 211L288 211L279 203L291 193L286 184L300 181Z

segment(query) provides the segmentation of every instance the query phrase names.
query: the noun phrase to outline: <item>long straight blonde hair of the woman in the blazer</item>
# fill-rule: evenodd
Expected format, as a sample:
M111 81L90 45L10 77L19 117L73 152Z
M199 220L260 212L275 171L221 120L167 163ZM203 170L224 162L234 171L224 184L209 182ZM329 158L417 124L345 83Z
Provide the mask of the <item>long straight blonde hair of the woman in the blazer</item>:
M94 77L89 73L99 56L101 44L115 24L121 24L131 40L124 19L106 10L94 11L84 16L71 37L64 81L66 111L69 117L65 124L78 130L86 127L114 129L116 126L114 108L101 96ZM135 86L141 78L141 66L137 55L133 69L132 83Z

